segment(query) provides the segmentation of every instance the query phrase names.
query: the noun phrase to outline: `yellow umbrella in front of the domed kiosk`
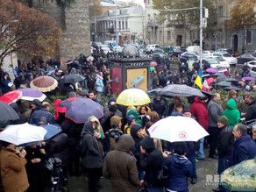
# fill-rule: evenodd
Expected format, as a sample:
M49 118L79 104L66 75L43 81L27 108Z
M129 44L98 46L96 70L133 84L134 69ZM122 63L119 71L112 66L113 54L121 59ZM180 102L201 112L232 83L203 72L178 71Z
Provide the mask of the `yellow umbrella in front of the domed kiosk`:
M117 104L137 106L150 103L150 98L142 89L125 89L117 96Z

